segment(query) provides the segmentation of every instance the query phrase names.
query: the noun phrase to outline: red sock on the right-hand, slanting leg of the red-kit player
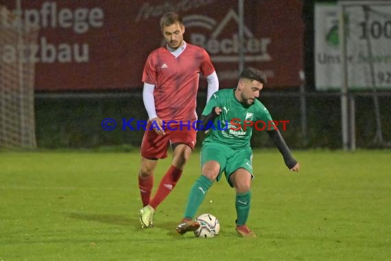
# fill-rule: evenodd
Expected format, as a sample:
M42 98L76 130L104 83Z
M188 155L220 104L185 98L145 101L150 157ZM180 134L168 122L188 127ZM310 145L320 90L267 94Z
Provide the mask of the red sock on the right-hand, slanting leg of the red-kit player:
M178 182L180 175L182 175L182 170L171 166L166 174L164 175L161 183L159 184L158 190L154 198L150 201L150 206L154 209L168 196L168 194L175 188L176 183Z

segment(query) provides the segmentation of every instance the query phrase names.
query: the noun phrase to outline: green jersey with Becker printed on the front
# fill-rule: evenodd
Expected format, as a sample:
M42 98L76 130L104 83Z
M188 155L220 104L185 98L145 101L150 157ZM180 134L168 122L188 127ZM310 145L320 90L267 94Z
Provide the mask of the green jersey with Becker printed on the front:
M266 131L270 129L270 124L274 125L268 109L259 100L254 100L253 104L247 106L241 104L235 97L235 89L216 91L202 115L209 115L213 107L219 107L222 112L215 117L213 127L209 129L203 144L217 142L233 149L247 148L250 147L253 128ZM208 123L204 122L205 124Z

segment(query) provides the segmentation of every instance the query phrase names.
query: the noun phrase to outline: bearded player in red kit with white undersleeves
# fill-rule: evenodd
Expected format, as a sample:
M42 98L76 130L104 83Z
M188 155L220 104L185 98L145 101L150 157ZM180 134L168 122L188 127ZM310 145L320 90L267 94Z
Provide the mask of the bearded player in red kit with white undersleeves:
M141 227L152 227L156 208L175 188L195 146L193 122L197 120L195 106L200 73L208 81L207 100L219 88L209 54L183 40L185 25L180 16L168 12L160 24L167 46L155 49L148 56L143 71L143 102L149 121L141 144L139 170L143 202ZM169 145L173 150L171 167L151 198L154 170L158 159L167 157Z

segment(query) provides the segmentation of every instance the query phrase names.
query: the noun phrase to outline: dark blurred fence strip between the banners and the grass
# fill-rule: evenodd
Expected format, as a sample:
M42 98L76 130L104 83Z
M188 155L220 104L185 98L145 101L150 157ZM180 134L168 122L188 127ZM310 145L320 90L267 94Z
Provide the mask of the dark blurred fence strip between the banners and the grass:
M100 94L99 94L100 95ZM122 120L134 118L147 120L141 91L132 93L111 93L98 97L96 94L36 95L36 137L40 148L96 148L130 144L140 146L143 131L122 130ZM287 144L292 148L341 148L341 113L339 93L307 93L307 125L303 129L300 111L300 93L279 91L261 93L260 100L268 107L274 120L289 120L283 131ZM198 98L198 115L202 112L206 93ZM391 96L379 98L383 129L390 130ZM379 148L374 141L376 122L371 95L355 96L357 111L357 146ZM114 131L104 131L102 120L112 118L117 122ZM137 129L136 124L132 124ZM383 133L391 140L391 133ZM198 145L202 141L198 133ZM268 135L254 131L252 146L272 146Z

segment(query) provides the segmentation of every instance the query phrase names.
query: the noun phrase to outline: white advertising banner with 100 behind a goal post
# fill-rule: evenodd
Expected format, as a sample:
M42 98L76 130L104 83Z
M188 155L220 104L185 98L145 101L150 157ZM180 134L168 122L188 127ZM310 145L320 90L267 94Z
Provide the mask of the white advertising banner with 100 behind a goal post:
M335 3L316 3L316 89L340 89L344 78L349 89L391 89L391 5L372 2L344 7L345 58L340 55L339 12Z

